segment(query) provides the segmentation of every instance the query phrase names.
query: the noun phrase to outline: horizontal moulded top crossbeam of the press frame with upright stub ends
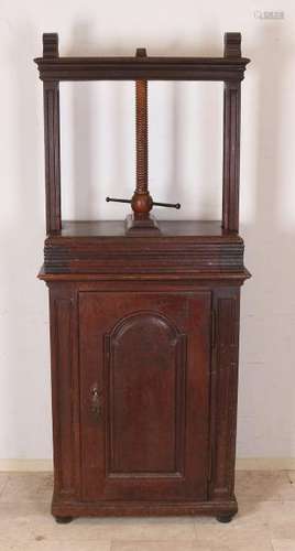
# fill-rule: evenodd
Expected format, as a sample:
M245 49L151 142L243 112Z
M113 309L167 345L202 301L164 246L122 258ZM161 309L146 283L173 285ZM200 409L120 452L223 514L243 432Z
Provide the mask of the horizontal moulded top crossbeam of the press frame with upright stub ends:
M58 35L43 34L42 80L242 80L240 33L225 34L223 57L59 57Z

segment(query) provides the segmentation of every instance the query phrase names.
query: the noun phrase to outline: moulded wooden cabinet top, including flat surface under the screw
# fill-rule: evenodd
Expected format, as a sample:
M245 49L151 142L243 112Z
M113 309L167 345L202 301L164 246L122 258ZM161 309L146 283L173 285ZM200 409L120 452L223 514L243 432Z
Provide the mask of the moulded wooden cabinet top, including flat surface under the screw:
M157 237L129 237L124 223L66 222L45 240L41 279L203 279L242 282L243 240L219 222L160 222Z

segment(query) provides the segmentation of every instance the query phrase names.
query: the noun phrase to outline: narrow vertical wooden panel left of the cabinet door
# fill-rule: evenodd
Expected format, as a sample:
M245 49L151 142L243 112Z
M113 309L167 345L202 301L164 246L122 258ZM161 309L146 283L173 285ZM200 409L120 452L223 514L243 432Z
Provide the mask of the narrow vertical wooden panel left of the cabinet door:
M74 331L75 301L51 291L52 403L54 437L55 494L67 498L77 494L76 466L77 425L75 415L78 396L75 382Z

